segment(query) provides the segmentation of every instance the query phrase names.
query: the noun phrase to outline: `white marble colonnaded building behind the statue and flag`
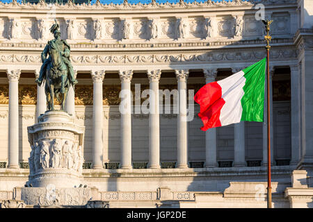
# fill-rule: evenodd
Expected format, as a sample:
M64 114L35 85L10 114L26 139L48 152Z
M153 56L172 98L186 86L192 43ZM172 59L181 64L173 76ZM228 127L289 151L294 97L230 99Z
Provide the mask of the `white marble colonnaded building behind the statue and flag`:
M264 58L257 3L265 6L265 19L274 21L273 206L313 207L311 0L0 3L0 200L18 199L18 187L28 180L27 126L46 106L35 76L56 18L79 80L75 92L69 92L67 112L86 129L83 177L94 187L94 199L107 200L111 207L266 207L263 123L204 133L197 104L193 120L184 122L183 111L193 101L187 104L179 96L181 112L174 114L171 105L171 112L164 113L163 102L155 102L162 94L150 98L154 114L138 111L145 98L134 98L134 106L125 100L134 114L119 112L121 89L135 92L141 84L141 91L181 89L184 94Z

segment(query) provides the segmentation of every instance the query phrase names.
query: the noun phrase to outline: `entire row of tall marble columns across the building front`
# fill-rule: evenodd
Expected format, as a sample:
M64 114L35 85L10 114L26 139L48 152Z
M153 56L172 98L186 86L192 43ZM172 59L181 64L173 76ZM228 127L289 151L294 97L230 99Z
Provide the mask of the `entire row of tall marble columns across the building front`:
M233 73L243 68L232 69ZM273 67L271 68L271 78L273 76ZM21 71L7 70L9 80L9 144L8 144L8 168L19 167L19 114L18 114L18 80ZM216 80L217 68L203 70L206 83ZM36 76L39 71L35 70ZM188 131L187 131L187 80L188 69L175 70L178 89L178 115L177 115L177 168L188 168ZM103 70L91 71L93 79L93 169L103 169L103 105L102 105L102 84L105 76ZM132 70L119 71L122 104L121 112L121 157L120 169L131 169L131 78ZM147 78L150 82L150 90L159 92L159 80L161 78L161 70L147 70ZM45 99L45 87L38 86L37 94L37 116L44 113L47 109ZM273 90L270 83L271 108L273 109ZM299 136L299 117L300 109L299 101L299 69L298 66L291 67L291 164L298 164L300 160L300 136ZM266 102L264 110L266 110ZM65 110L74 116L74 89L70 87L67 94ZM152 111L152 112L151 112ZM273 110L271 110L271 120L273 121ZM263 164L267 163L267 128L266 128L266 112L264 112L263 126ZM159 169L160 166L160 121L159 121L159 93L150 96L150 114L149 114L149 162L147 167L150 169ZM271 141L273 149L273 123L271 124ZM216 128L207 130L205 134L205 163L204 167L218 167L216 160L217 144L216 144ZM272 150L273 153L273 150ZM244 122L234 124L234 164L233 167L245 167L245 125ZM273 162L273 155L271 162Z

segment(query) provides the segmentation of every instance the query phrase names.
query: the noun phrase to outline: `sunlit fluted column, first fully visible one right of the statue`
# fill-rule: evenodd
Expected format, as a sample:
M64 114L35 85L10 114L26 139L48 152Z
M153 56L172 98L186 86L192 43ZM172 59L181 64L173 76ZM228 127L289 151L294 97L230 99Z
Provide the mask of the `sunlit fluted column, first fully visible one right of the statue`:
M93 78L93 169L103 169L103 98L104 71L92 71Z

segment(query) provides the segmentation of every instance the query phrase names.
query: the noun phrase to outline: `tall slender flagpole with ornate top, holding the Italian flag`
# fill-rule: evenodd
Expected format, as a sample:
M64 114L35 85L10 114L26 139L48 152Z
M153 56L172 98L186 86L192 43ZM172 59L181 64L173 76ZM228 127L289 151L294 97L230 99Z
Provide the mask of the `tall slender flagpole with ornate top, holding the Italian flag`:
M272 187L271 187L271 103L270 103L270 73L269 73L269 51L271 46L269 42L271 41L271 35L269 34L270 25L273 20L262 21L265 24L266 35L264 39L266 40L266 67L267 67L267 208L272 208Z

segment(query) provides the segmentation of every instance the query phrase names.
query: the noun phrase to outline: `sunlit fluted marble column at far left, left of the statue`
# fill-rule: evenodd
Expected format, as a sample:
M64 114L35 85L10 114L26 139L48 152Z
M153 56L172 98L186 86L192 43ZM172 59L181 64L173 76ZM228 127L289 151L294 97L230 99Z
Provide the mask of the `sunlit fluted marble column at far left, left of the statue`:
M6 70L9 81L8 168L19 168L19 76L21 71Z

